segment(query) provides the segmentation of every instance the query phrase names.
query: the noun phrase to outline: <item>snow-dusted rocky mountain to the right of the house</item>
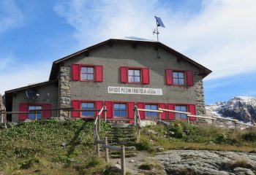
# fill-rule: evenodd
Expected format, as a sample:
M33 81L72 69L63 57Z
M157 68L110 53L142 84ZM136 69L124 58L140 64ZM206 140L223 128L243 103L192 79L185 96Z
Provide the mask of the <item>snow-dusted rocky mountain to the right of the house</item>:
M244 123L256 123L256 98L236 96L229 101L206 105L206 115L232 117Z

